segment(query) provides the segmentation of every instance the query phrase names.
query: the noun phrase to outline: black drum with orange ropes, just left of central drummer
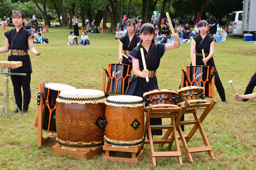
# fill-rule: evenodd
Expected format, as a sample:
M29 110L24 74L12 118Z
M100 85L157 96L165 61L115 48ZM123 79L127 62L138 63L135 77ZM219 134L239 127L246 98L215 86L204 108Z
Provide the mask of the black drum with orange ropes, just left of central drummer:
M110 63L108 66L108 81L106 84L106 94L124 95L131 78L129 65L121 63Z

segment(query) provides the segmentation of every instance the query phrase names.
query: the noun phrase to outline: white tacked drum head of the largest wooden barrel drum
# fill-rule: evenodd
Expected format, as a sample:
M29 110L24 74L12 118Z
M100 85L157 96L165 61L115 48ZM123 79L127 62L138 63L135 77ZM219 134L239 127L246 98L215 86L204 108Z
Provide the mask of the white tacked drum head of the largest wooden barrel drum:
M59 103L104 103L106 96L103 91L90 89L63 90L56 99Z

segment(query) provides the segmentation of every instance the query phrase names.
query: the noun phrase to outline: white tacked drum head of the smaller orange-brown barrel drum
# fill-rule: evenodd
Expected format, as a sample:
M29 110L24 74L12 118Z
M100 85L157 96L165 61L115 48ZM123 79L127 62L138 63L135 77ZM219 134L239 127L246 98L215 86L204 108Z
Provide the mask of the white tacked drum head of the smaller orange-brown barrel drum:
M144 105L142 97L131 95L109 96L105 104L114 107L139 107Z

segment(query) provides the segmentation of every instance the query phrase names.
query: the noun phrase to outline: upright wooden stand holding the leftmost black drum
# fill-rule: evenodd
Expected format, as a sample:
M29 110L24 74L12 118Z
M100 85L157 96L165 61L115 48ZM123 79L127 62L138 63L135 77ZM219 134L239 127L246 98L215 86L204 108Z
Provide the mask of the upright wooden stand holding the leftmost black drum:
M56 141L57 133L49 133L43 137L43 96L42 93L38 93L38 147L44 145L48 141Z

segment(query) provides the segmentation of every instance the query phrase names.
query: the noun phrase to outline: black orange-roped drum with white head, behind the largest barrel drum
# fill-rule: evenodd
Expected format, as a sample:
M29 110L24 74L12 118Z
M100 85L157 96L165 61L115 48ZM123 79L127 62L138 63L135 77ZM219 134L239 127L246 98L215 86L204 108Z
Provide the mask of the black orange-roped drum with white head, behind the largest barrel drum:
M43 103L43 130L56 132L56 99L60 91L74 90L76 87L60 83L42 83L40 88L40 91L43 92L44 100L46 101L45 104Z

